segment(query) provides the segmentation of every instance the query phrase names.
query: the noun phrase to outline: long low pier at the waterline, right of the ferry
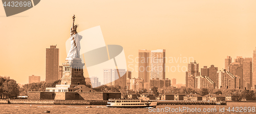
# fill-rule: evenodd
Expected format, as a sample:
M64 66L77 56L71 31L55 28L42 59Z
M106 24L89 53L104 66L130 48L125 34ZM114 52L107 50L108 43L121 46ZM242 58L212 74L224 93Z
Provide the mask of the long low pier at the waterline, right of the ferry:
M226 103L226 101L174 101L174 100L157 100L157 105L227 105L227 103Z

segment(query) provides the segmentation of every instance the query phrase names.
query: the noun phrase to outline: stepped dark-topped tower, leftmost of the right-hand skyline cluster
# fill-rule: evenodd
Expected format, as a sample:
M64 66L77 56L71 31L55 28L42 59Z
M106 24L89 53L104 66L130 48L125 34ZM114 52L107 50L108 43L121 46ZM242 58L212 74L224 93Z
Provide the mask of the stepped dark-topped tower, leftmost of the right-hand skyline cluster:
M186 87L187 88L196 88L196 77L200 76L199 64L189 63L186 73Z

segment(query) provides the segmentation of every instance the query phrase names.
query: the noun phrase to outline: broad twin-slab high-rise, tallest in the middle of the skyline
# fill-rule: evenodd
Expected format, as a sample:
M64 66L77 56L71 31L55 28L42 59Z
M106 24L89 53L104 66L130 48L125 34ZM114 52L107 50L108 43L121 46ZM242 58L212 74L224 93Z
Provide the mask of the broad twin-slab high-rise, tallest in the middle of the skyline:
M149 88L150 79L165 79L165 49L139 49L139 78L144 88Z

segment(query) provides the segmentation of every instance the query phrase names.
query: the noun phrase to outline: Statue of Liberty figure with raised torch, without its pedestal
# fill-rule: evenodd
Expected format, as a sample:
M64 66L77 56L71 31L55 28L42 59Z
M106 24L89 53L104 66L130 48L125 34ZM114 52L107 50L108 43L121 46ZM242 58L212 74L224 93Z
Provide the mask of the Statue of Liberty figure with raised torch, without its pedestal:
M73 15L73 22L72 22L72 26L70 29L70 43L71 43L71 48L69 50L69 54L67 56L67 58L80 58L80 40L82 39L81 35L78 35L78 33L76 32L77 29L77 24L74 25L75 22L75 15Z

